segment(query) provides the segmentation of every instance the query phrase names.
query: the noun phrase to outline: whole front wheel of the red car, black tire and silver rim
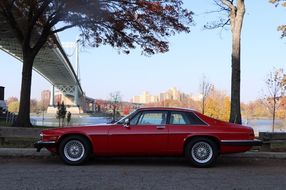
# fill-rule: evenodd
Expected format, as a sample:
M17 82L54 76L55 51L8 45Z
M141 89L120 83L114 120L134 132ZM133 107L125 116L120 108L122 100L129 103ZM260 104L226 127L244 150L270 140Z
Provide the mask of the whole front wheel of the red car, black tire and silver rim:
M68 165L82 165L90 158L90 142L82 136L70 135L60 143L58 154Z

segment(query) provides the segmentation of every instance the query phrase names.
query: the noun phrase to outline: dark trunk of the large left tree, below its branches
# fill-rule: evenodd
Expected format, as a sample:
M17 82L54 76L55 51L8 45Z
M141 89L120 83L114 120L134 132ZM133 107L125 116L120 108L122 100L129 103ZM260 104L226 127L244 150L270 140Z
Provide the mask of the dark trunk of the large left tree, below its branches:
M33 55L31 52L23 52L21 100L19 114L17 116L17 120L12 125L13 127L33 128L33 125L30 122L30 96L32 70L35 56L36 55Z

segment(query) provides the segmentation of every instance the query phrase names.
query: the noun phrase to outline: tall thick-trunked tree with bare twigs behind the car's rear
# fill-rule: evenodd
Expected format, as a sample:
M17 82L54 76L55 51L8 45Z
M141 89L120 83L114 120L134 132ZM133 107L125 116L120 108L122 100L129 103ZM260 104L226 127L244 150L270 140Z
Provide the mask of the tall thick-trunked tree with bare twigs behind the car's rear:
M240 33L242 28L243 16L245 13L244 0L236 0L236 6L233 0L214 0L219 13L217 21L204 25L204 29L221 28L230 29L232 32L232 54L231 54L231 103L229 122L242 124L240 113Z

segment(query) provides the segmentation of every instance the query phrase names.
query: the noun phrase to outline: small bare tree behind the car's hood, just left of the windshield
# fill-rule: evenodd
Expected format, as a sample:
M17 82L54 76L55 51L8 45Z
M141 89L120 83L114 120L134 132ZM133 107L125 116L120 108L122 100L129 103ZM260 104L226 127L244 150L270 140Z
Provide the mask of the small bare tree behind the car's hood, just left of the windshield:
M108 107L112 110L112 114L106 119L109 119L111 123L116 122L121 116L119 114L119 110L122 109L123 102L122 102L123 95L120 91L111 92L107 96Z

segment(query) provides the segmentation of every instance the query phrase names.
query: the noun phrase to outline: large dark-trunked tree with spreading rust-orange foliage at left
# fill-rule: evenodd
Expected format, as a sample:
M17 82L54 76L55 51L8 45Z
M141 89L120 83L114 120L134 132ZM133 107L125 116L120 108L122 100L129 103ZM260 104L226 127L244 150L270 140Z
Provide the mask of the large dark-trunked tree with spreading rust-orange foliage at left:
M29 118L33 61L41 48L58 43L55 33L77 26L83 47L111 45L129 54L138 45L145 56L164 53L169 50L167 37L189 33L193 25L193 12L182 4L182 0L0 0L0 25L13 31L23 53L21 102L13 126L33 127ZM58 23L64 25L55 29Z

